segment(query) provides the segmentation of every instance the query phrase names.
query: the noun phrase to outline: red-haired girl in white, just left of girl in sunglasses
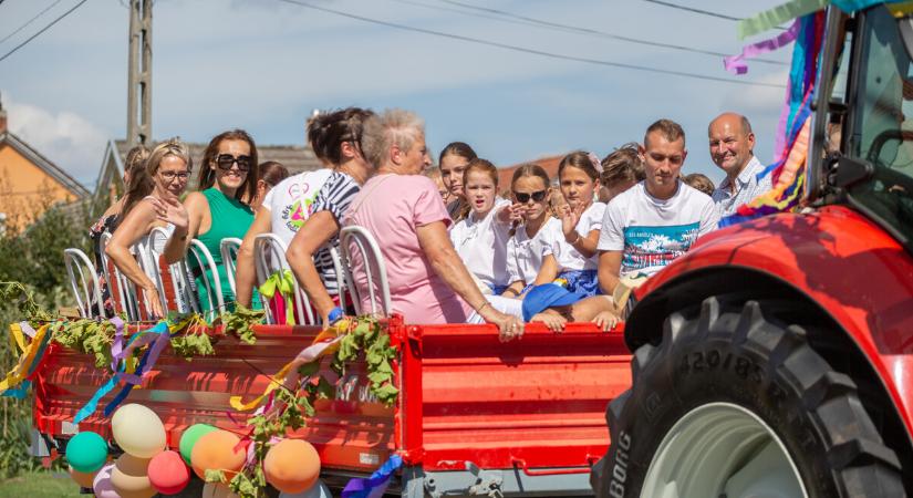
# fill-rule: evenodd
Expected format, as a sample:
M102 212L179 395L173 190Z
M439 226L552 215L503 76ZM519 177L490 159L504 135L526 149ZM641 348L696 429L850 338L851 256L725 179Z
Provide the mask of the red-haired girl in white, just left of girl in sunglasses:
M520 207L496 197L498 169L485 159L473 159L463 174L463 193L469 215L450 229L450 241L466 268L480 282L483 293L500 295L508 283L507 239Z

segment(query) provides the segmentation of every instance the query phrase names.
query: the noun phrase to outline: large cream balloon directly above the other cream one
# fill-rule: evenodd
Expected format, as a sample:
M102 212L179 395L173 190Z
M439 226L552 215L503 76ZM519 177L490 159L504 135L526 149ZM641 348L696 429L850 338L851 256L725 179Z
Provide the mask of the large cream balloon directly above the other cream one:
M152 409L129 403L111 417L111 433L117 446L138 458L152 458L165 449L165 426Z

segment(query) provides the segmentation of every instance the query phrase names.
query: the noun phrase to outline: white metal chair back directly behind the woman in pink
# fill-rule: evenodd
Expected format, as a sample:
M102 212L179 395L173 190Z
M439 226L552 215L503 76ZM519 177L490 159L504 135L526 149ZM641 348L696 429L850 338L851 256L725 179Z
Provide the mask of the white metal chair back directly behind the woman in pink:
M381 247L364 227L352 225L340 230L340 249L342 250L342 268L346 272L352 300L355 301L355 312L359 314L371 313L390 315L393 305L390 300L390 283L387 282L386 263L381 253ZM357 249L357 257L364 262L365 278L367 279L367 293L371 310L362 309L362 298L359 288L355 286L351 274L353 250ZM376 276L376 278L375 278ZM380 297L377 295L380 294ZM380 301L380 310L377 308Z

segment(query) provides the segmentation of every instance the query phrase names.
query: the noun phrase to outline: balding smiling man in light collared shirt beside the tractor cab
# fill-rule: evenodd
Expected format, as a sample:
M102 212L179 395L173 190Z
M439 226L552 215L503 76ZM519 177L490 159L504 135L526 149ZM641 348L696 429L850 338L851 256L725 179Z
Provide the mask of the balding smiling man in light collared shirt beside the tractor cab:
M710 158L726 173L714 190L719 216L729 216L745 203L772 188L770 175L758 180L764 165L755 157L755 134L745 116L724 113L707 128Z

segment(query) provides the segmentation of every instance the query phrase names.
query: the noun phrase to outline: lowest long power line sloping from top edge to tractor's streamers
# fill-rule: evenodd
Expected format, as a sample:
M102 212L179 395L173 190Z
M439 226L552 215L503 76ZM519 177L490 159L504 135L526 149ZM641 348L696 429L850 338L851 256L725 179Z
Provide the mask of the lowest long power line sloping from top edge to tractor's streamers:
M644 71L644 72L656 73L656 74L671 74L671 75L675 75L675 76L692 77L692 79L695 79L695 80L718 81L718 82L723 82L723 83L733 83L733 84L737 84L737 85L769 86L769 87L774 87L774 89L784 89L784 87L786 87L785 85L777 85L777 84L772 84L772 83L759 83L759 82L751 82L751 81L746 81L746 80L732 80L732 79L727 79L727 77L708 76L706 74L691 73L691 72L685 72L685 71L664 70L664 69L658 69L658 68L650 68L650 66L645 66L645 65L627 64L627 63L624 63L624 62L614 62L614 61L604 61L604 60L600 60L600 59L589 59L589 58L580 58L580 56L574 56L574 55L564 55L564 54L559 54L559 53L554 53L554 52L546 52L543 50L528 49L528 48L525 48L525 46L511 45L511 44L494 42L494 41L489 41L489 40L481 40L481 39L478 39L478 38L464 37L461 34L445 33L443 31L434 31L434 30L428 30L428 29L425 29L425 28L415 28L415 27L411 27L411 25L406 25L406 24L398 24L398 23L395 23L395 22L382 21L382 20L378 20L378 19L366 18L364 15L353 14L351 12L344 12L344 11L341 11L341 10L330 9L330 8L326 8L326 7L314 6L312 3L308 3L308 2L303 2L303 1L297 1L297 0L278 0L278 1L286 2L286 3L292 3L292 4L295 4L295 6L304 7L307 9L319 10L321 12L328 12L328 13L341 15L341 17L349 18L349 19L355 19L355 20L363 21L363 22L369 22L369 23L372 23L372 24L380 24L380 25L385 25L385 27L388 27L388 28L395 28L395 29L398 29L398 30L412 31L412 32L416 32L416 33L430 34L430 35L434 35L434 37L447 38L447 39L450 39L450 40L459 40L459 41L465 41L465 42L469 42L469 43L476 43L476 44L479 44L479 45L496 46L496 48L499 48L499 49L512 50L512 51L516 51L516 52L529 53L529 54L533 54L533 55L541 55L541 56L544 56L544 58L558 59L558 60L562 60L562 61L575 61L575 62L583 62L583 63L588 63L588 64L604 65L604 66L610 66L610 68L630 69L630 70ZM2 60L2 59L0 59L0 60Z

